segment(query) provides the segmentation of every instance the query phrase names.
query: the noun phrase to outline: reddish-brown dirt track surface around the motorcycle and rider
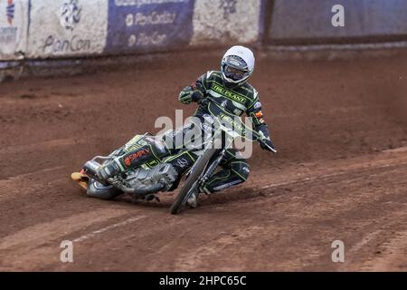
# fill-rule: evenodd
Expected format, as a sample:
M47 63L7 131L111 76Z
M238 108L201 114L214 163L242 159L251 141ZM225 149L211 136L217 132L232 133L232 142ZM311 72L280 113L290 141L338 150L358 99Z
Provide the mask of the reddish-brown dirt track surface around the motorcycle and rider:
M259 56L251 83L279 154L255 150L247 183L185 214L169 214L173 194L103 201L72 184L157 117L193 112L177 94L221 54L1 84L0 270L406 271L406 56ZM345 263L331 260L335 240Z

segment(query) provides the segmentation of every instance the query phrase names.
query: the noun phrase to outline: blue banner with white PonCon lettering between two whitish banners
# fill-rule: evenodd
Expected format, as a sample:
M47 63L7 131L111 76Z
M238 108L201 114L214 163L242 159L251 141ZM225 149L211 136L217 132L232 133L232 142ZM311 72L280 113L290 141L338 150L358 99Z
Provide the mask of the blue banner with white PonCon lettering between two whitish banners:
M188 45L194 0L109 0L105 53L149 53Z

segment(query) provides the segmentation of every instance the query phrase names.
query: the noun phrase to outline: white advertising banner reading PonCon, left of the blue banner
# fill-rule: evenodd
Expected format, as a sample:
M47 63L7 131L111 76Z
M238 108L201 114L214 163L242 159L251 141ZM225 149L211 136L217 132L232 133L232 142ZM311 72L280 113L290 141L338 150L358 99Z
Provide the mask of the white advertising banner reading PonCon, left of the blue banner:
M107 32L108 0L35 0L31 2L27 56L99 54Z

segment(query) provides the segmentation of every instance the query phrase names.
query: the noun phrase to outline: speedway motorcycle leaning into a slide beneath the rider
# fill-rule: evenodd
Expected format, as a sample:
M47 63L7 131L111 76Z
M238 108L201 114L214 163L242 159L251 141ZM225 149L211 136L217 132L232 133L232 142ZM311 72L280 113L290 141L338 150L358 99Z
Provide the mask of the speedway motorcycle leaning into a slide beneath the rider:
M159 192L171 191L177 187L182 179L185 179L182 189L170 208L171 214L180 213L186 208L188 198L212 177L225 156L226 150L232 148L234 140L241 137L244 140L259 141L264 146L269 147L263 136L252 131L240 118L236 118L235 115L226 111L221 104L211 97L206 98L204 106L213 118L215 130L211 134L211 138L204 140L200 150L193 149L194 154L199 157L194 165L185 171L184 175L178 176L177 171L169 162L172 156L168 156L161 160L155 160L153 163L142 164L136 169L128 169L128 171L108 179L106 184L100 183L96 178L97 169L105 162L116 158L121 152L121 148L113 151L109 156L97 156L86 162L80 172L72 173L71 179L86 189L87 195L93 198L113 199L119 195L128 194L133 198L156 199L157 201L159 201L157 197ZM131 141L131 146L137 143L143 144L147 138L151 137L152 135L148 133L137 135ZM277 152L272 148L270 150L274 153Z

